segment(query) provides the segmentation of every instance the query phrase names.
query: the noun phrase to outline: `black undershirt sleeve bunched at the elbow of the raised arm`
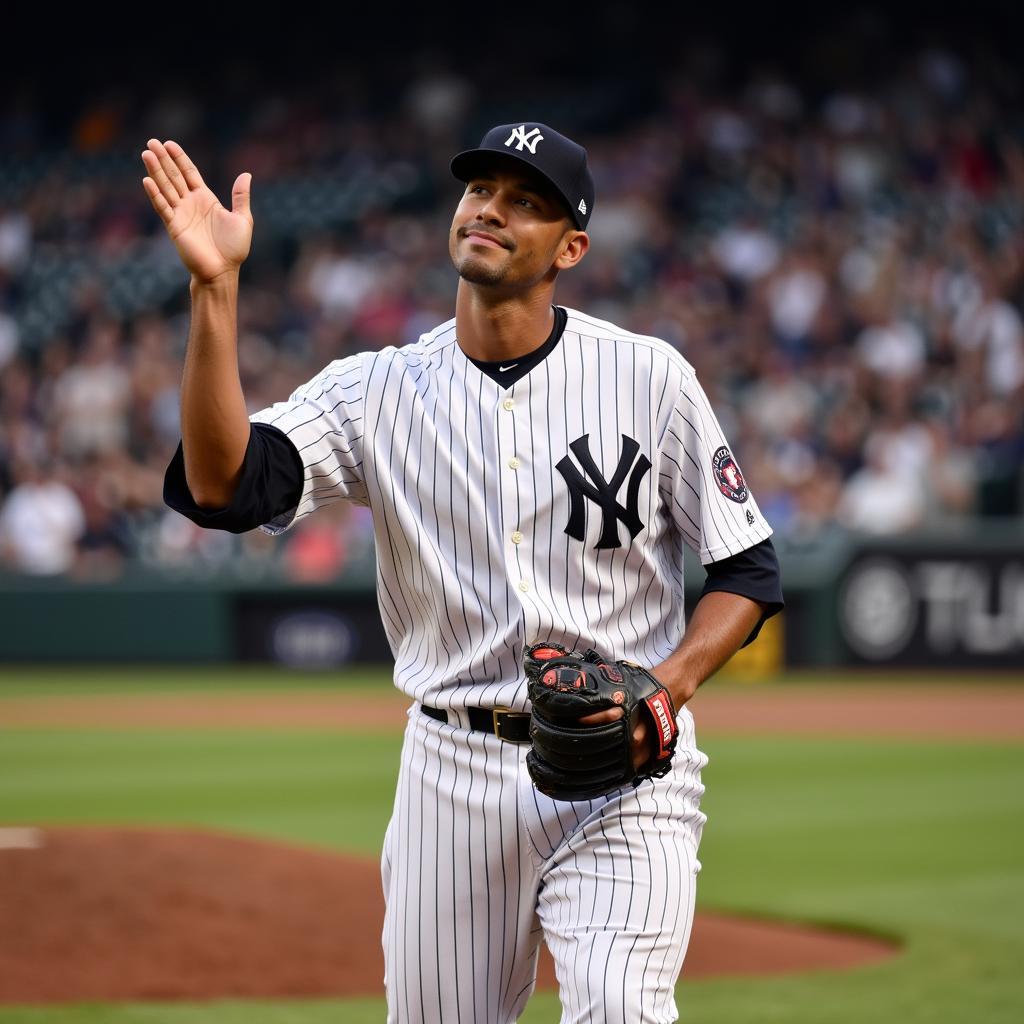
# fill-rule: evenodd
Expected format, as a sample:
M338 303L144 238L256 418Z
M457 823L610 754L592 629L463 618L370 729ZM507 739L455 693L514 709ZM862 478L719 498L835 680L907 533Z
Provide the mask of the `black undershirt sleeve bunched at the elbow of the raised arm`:
M299 453L287 434L269 424L254 423L230 505L204 509L196 504L185 479L180 441L164 474L164 503L200 526L245 534L296 508L302 497L304 472Z

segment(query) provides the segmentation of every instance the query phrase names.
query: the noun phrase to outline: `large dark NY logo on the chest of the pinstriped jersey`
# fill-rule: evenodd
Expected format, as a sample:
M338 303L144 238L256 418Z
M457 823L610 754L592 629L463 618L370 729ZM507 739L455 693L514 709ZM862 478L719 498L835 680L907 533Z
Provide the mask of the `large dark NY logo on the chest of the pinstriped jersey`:
M590 454L590 434L578 437L569 444L569 447L590 480L584 477L568 456L562 458L555 467L562 474L569 488L569 521L565 525L565 532L577 541L583 541L586 538L584 499L589 498L600 507L603 516L601 537L595 547L621 548L620 521L630 531L631 540L643 529L643 522L640 520L637 509L640 503L640 482L647 470L650 469L650 460L642 453L637 458L637 453L640 452L639 443L632 437L623 434L623 454L618 458L618 465L615 467L611 479L605 480ZM624 508L618 504L618 499L615 496L623 485L623 480L626 479L626 474L630 472L631 466L633 472L630 475L630 483L626 492L626 507Z

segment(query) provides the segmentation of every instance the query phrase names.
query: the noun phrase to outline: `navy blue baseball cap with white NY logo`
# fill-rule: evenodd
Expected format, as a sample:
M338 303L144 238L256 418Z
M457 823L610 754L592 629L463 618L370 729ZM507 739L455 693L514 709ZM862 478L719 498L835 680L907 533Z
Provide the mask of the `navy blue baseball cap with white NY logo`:
M594 179L582 145L538 121L498 125L475 150L464 150L452 158L452 173L460 181L468 181L480 157L488 153L511 157L538 171L565 201L577 227L587 229L594 209Z

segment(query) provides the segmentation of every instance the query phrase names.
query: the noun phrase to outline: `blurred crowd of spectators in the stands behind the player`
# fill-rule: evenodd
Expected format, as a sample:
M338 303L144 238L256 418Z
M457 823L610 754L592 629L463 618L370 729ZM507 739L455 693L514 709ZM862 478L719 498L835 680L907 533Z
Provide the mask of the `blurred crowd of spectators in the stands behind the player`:
M373 115L345 94L342 79L228 110L103 92L59 144L31 97L0 106L7 569L230 562L325 580L371 551L366 510L345 503L275 540L163 504L188 288L141 186L155 135L225 203L253 174L239 311L253 412L454 314L447 161L532 116L585 142L596 181L591 250L555 300L683 353L780 541L1022 516L1024 122L978 61L926 48L815 95L777 70L723 88L684 68L607 120L593 96L488 105L441 65Z

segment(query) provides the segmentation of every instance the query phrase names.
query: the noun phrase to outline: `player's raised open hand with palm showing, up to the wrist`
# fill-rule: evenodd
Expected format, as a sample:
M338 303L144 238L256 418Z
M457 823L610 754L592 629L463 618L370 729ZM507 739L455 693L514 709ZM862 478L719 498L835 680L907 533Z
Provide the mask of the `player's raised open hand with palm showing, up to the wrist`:
M193 276L209 284L237 271L252 243L252 175L244 171L234 179L225 210L177 142L151 138L142 163L148 172L142 187Z

